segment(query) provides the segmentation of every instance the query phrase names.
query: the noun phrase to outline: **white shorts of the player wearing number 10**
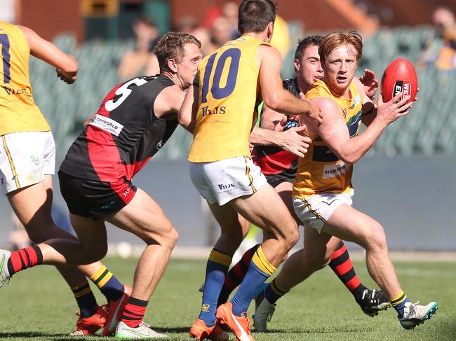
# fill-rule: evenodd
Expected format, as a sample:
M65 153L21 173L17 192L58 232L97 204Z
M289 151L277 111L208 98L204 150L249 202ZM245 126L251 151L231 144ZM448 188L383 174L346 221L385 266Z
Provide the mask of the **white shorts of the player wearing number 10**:
M252 195L266 177L251 158L237 156L214 162L190 162L190 179L209 204L220 206L236 197Z

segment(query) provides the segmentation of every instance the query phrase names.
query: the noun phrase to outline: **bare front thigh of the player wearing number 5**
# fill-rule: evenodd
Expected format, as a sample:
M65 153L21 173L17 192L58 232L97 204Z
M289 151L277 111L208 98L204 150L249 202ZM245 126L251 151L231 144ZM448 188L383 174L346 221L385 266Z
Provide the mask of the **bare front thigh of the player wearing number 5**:
M132 232L151 243L174 244L177 232L173 224L152 197L138 188L133 199L120 211L106 218L119 228Z

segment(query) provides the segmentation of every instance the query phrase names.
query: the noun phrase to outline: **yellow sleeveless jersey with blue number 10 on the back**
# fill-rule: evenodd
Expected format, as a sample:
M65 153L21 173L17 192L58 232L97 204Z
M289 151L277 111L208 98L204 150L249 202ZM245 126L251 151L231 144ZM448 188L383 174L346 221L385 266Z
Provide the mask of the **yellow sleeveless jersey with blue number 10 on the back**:
M255 104L260 92L255 62L260 45L251 36L228 41L198 67L199 109L189 153L191 162L249 156Z

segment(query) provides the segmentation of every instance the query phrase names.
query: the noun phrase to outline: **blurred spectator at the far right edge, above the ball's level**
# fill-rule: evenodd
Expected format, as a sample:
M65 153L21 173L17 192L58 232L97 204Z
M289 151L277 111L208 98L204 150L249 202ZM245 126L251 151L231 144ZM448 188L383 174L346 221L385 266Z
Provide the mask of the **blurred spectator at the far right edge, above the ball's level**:
M434 64L438 69L456 69L456 18L450 8L438 7L432 14L436 34L428 41L418 67Z

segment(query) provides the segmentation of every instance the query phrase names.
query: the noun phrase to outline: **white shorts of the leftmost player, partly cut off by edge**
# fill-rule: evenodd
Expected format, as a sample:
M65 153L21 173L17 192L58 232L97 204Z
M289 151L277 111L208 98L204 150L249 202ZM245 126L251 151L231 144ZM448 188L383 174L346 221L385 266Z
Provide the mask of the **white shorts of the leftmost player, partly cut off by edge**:
M0 138L0 183L4 194L54 174L55 143L51 132L13 132Z

